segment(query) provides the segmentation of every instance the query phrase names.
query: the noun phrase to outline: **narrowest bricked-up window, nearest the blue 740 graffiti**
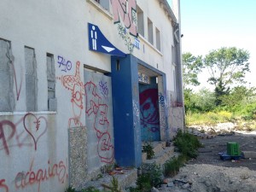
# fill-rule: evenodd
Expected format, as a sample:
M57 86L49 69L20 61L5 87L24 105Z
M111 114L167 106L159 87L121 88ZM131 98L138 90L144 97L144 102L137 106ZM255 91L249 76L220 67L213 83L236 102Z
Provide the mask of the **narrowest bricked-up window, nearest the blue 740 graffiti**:
M56 110L55 102L55 61L54 55L47 54L48 110Z

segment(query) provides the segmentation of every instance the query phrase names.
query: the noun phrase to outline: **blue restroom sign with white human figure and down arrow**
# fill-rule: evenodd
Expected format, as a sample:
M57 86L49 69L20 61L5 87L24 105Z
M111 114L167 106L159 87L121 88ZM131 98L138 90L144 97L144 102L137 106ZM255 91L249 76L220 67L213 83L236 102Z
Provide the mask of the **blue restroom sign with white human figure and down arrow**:
M89 49L109 55L125 57L125 53L117 49L103 35L98 26L88 23Z

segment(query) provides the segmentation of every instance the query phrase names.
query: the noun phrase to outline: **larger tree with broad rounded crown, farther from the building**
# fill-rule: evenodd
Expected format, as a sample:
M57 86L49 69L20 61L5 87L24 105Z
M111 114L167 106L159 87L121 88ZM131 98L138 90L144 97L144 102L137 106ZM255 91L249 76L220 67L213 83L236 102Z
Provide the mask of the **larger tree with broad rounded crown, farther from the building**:
M230 93L230 85L246 83L245 74L249 72L249 53L236 47L215 49L204 59L204 66L210 74L208 83L215 86L215 103L222 104L221 97Z

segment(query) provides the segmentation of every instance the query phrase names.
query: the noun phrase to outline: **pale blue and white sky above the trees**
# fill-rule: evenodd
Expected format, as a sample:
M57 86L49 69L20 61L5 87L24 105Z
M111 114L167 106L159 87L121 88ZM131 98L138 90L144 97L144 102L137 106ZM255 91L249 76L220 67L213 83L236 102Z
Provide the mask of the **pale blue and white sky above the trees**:
M246 80L256 87L256 0L180 2L183 52L207 55L221 47L246 49L250 53L251 69ZM202 75L200 78L206 79Z

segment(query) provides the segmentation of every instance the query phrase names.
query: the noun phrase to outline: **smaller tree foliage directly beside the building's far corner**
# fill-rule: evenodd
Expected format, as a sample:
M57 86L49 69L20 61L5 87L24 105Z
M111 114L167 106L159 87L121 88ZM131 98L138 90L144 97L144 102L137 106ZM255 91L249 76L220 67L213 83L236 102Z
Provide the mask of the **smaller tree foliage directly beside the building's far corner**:
M200 84L198 81L198 73L201 73L202 57L194 56L191 53L183 53L183 87L187 89L188 85L197 86Z

